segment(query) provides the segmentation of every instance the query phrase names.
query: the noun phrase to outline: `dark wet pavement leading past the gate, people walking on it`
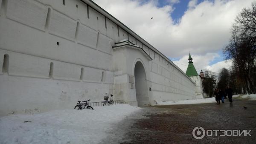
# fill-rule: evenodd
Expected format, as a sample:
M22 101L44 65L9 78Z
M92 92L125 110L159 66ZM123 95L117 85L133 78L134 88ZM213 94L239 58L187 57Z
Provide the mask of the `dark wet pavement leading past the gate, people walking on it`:
M247 107L247 109L244 109ZM195 127L204 130L251 130L251 136L205 136L197 140ZM256 101L234 99L216 105L186 104L143 107L116 124L103 142L122 144L255 144Z

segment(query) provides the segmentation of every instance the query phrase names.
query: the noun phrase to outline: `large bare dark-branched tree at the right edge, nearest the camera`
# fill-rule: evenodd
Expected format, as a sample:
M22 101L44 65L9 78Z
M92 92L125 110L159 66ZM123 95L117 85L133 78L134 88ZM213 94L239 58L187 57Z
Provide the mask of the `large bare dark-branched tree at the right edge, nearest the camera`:
M256 84L256 2L251 8L244 8L236 17L230 43L225 47L226 59L233 59L236 73L243 78L247 92L255 93Z

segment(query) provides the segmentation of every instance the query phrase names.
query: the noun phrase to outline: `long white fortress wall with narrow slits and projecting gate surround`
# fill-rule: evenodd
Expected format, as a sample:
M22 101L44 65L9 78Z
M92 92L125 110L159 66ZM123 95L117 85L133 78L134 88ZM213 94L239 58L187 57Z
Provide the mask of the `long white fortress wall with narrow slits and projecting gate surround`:
M196 98L184 72L105 13L90 0L0 0L0 115L73 108L77 100L102 101L105 92L136 105L136 60L151 105ZM124 39L151 60L139 50L113 52Z

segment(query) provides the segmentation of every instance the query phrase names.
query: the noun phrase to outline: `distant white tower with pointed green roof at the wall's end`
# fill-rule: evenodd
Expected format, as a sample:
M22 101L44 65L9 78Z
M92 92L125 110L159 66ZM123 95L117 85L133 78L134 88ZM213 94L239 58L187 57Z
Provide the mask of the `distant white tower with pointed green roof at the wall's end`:
M189 65L186 70L186 75L195 82L195 95L197 98L204 97L203 88L202 88L202 78L204 77L204 72L201 70L200 75L198 75L195 66L193 64L193 58L189 53Z

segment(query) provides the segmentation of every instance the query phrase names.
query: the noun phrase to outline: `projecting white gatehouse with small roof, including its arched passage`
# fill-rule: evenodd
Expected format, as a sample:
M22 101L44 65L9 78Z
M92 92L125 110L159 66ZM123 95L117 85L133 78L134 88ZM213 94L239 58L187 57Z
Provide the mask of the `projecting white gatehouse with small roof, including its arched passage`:
M149 62L152 60L143 48L130 41L113 46L115 100L134 106L150 106Z

